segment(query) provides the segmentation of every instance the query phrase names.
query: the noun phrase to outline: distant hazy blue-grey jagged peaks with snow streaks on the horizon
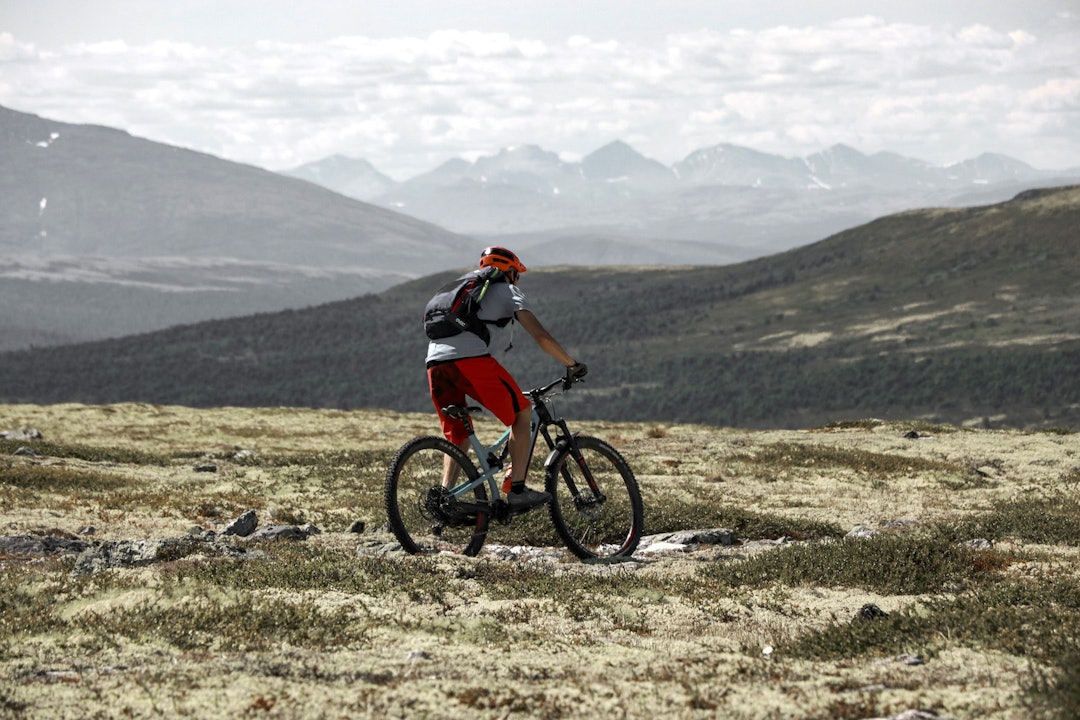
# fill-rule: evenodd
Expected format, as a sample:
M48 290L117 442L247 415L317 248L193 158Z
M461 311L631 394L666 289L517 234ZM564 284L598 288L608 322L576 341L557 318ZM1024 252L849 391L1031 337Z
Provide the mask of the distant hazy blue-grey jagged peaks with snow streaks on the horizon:
M1040 171L993 153L935 166L845 145L783 158L728 144L667 167L615 141L581 162L535 145L511 147L474 162L450 160L404 182L340 155L287 175L456 232L512 237L551 263L576 261L567 240L586 256L597 248L616 256L621 245L652 262L732 262L890 213L987 204L1066 185L1080 178L1080 168ZM661 243L678 244L665 252Z

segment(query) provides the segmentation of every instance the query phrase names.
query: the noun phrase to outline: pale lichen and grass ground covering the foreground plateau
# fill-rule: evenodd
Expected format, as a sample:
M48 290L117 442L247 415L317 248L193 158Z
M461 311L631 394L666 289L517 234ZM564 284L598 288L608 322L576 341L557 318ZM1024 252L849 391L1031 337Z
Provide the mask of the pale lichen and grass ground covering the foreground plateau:
M1080 704L1075 435L594 423L635 468L648 532L784 540L590 566L380 555L386 464L418 419L40 412L50 443L0 454L9 534L178 538L248 508L324 532L239 559L191 541L90 575L70 556L0 556L0 717L1066 718ZM141 426L114 447L118 424ZM195 472L205 462L216 472ZM545 515L527 518L488 542L557 546ZM365 533L345 532L355 519ZM855 525L879 531L846 536ZM866 603L885 614L856 620ZM907 654L922 665L893 660Z

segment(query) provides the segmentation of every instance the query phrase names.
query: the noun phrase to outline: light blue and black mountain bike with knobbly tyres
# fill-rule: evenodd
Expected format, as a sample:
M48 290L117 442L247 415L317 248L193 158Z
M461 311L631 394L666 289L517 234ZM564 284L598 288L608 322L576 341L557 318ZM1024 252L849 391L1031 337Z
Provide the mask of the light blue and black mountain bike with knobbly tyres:
M543 438L544 490L552 495L548 512L571 553L582 559L629 556L644 524L634 473L615 448L570 432L552 410L552 396L569 391L576 381L563 377L525 393L532 404L529 461ZM484 445L472 421L482 409L463 405L444 409L464 422L477 462L443 437L421 436L402 446L387 470L387 518L406 552L476 555L492 519L509 525L522 514L507 502L500 477L509 463L510 430Z

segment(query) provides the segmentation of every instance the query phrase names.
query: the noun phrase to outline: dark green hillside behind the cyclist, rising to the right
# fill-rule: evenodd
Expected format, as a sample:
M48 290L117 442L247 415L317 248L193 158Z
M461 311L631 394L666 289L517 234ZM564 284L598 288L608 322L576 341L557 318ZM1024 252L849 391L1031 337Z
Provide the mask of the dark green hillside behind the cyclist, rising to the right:
M738 266L556 268L523 287L589 363L567 411L806 426L1080 426L1080 187L882 218ZM528 262L528 258L525 258ZM0 355L0 402L426 410L419 313L450 273L302 311ZM523 382L557 370L521 334Z

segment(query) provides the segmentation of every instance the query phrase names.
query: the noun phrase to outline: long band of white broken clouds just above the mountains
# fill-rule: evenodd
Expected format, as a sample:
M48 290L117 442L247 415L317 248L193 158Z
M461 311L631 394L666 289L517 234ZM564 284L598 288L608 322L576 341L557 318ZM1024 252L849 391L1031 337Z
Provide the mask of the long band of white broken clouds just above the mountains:
M538 144L624 139L666 163L734 142L847 142L931 162L983 151L1080 165L1076 24L1038 35L866 16L654 42L427 37L69 44L0 33L0 104L279 169L342 153L399 179Z

